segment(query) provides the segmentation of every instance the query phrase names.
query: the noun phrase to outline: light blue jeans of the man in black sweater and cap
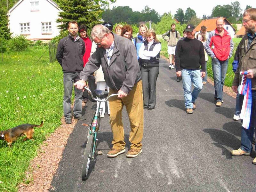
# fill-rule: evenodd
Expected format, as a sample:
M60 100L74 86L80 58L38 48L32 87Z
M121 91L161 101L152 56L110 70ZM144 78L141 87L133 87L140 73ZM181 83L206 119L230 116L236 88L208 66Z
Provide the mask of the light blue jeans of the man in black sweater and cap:
M184 97L185 97L185 107L193 108L193 103L195 102L199 92L203 88L203 82L201 78L200 70L192 70L192 69L182 69L182 84L184 89ZM194 90L191 93L191 86L194 85Z

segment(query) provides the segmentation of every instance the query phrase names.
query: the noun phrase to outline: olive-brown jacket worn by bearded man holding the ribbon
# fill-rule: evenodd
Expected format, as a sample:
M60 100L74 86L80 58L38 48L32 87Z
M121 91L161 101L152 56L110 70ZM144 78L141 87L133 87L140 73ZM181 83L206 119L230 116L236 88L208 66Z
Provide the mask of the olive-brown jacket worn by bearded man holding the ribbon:
M235 72L233 86L238 86L241 84L242 76L239 74L240 71L252 69L252 90L256 90L256 38L253 39L250 47L247 47L247 45L248 36L245 35L237 47L239 50L239 63Z

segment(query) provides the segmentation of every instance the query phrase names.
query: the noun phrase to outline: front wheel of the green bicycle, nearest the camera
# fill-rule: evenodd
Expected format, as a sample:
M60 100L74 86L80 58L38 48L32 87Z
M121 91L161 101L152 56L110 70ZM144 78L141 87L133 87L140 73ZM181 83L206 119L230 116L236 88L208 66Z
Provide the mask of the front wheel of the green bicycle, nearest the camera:
M82 166L82 180L88 178L88 171L92 157L93 135L90 135L84 150L84 162Z

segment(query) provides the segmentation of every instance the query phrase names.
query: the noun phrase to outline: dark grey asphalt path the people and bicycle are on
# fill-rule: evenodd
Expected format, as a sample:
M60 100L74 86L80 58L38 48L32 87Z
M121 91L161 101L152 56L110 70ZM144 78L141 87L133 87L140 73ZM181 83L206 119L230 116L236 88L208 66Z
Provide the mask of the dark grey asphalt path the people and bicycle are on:
M87 127L96 102L85 107L85 121L70 134L50 191L256 191L256 165L251 156L230 155L240 147L240 121L233 121L236 100L224 93L222 107L215 107L214 87L205 84L193 114L186 114L182 82L175 70L160 60L156 84L156 108L144 109L142 153L135 158L121 154L108 158L112 132L107 113L101 118L97 150L89 178L81 172ZM107 111L107 110L106 110ZM123 109L126 152L130 148L130 124ZM254 148L254 145L253 145ZM51 158L51 157L49 157Z

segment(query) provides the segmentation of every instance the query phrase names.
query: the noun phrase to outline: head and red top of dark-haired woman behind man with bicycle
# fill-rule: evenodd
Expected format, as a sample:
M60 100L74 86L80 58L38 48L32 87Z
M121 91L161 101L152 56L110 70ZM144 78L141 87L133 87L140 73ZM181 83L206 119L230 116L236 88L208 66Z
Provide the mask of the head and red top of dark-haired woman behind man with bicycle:
M92 41L88 37L86 25L84 25L84 24L79 25L78 32L80 34L80 37L84 40L84 43L85 43L85 53L84 53L84 57L83 57L84 66L85 66L85 64L87 63L87 61L90 57L90 53L91 53L91 49L92 49Z

